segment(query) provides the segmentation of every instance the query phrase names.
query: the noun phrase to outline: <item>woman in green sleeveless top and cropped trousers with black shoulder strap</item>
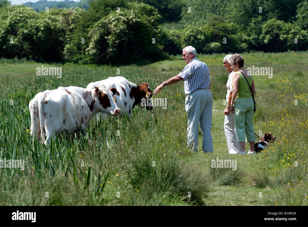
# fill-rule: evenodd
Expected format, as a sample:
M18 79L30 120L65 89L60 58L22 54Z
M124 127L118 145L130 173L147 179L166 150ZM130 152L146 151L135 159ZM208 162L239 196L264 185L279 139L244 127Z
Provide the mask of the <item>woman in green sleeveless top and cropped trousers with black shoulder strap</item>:
M254 142L256 141L253 128L253 98L247 84L252 88L253 96L256 93L252 75L244 70L244 58L239 54L233 54L230 58L230 64L233 68L233 93L231 99L230 111L234 113L235 128L237 139L241 146L240 154L246 154L245 136L249 142L250 149L247 154L255 154ZM247 79L245 79L245 77ZM233 106L234 105L234 106Z

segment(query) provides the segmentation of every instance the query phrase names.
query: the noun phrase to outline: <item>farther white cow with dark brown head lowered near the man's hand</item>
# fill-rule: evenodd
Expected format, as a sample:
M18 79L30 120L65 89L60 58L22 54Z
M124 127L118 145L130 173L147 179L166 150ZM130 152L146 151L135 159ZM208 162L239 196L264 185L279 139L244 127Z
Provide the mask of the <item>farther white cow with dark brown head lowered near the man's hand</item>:
M89 83L87 88L91 89L100 84L104 84L107 88L114 87L117 90L115 94L116 104L121 110L121 115L128 113L129 117L132 113L132 108L140 106L142 98L151 98L152 91L148 83L143 83L138 86L129 82L124 77L109 77L108 79ZM147 110L152 110L152 106L146 106Z

